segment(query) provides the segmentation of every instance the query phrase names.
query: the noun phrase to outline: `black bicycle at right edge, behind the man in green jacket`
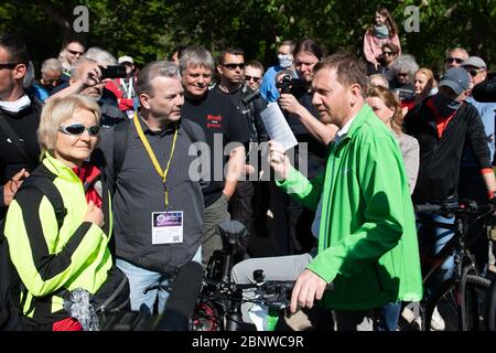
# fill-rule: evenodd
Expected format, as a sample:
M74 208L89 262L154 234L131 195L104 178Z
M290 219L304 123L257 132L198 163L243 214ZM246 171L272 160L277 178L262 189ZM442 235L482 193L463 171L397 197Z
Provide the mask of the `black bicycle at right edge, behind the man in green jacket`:
M478 222L488 224L488 217L494 212L493 205L477 205L474 201L462 201L446 204L424 204L414 207L418 214L435 213L444 216L454 216L454 224L434 221L421 221L436 227L454 231L454 236L445 244L430 270L423 276L425 284L432 275L454 254L453 276L442 281L421 304L422 330L431 330L431 319L438 307L445 322L445 330L478 331L483 328L481 317L483 309L479 296L484 296L490 281L478 275L474 256L468 246L476 237L472 236L471 227Z

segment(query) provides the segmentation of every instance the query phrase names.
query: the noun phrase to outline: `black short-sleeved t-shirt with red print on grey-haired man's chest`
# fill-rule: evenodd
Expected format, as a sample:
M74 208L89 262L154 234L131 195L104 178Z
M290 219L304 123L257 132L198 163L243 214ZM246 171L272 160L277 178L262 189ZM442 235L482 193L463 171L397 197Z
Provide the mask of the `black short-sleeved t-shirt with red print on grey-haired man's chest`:
M211 148L211 182L203 189L205 206L209 206L224 189L224 167L228 160L224 148L230 142L248 143L248 122L228 97L214 90L207 90L201 99L184 99L181 115L202 127Z

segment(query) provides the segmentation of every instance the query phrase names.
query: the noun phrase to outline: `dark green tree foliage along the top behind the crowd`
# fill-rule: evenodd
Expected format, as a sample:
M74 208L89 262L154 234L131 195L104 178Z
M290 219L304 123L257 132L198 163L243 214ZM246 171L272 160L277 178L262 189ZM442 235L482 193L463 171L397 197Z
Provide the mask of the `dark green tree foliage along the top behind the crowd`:
M90 12L88 46L115 56L131 55L137 63L170 57L175 45L204 45L214 55L225 46L242 47L247 58L273 64L277 43L314 38L328 53L362 55L363 35L378 1L368 0L3 0L0 31L21 35L35 63L58 54L71 34L73 9ZM496 60L494 0L385 0L400 29L402 51L422 66L442 67L448 47L461 45L489 63ZM420 7L420 32L406 33L405 8ZM51 8L52 11L48 10ZM55 13L69 23L55 21Z

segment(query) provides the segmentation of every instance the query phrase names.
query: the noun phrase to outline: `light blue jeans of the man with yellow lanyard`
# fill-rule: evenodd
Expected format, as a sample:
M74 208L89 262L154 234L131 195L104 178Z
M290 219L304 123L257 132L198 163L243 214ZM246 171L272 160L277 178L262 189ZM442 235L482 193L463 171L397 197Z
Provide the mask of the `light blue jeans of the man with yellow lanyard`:
M192 261L202 264L202 246L198 247ZM131 310L152 314L153 306L159 299L158 313L162 313L170 292L168 290L151 289L144 293L144 290L154 285L169 287L171 285L171 276L134 266L122 259L117 259L116 265L128 276Z

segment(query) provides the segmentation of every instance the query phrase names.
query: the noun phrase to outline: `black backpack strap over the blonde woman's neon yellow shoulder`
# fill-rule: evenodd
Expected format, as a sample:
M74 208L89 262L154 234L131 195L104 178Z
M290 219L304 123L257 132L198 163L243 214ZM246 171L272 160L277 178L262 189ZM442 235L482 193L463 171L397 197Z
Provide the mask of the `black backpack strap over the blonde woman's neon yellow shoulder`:
M61 192L53 183L55 178L55 174L48 171L45 165L41 164L22 183L20 191L34 189L44 194L48 199L52 207L55 211L55 217L57 220L57 226L60 229L64 224L65 216L67 215L67 208L64 206L64 201L62 199Z

